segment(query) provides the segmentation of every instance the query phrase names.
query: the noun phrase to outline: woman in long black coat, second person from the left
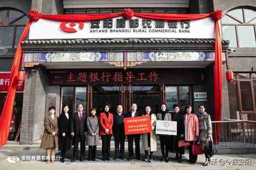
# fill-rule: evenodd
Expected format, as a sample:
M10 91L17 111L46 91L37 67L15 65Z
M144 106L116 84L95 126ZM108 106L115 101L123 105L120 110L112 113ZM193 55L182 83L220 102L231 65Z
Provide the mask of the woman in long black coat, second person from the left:
M71 136L70 136L70 122L71 115L68 113L68 105L64 105L61 115L59 116L59 133L60 133L60 144L61 144L61 162L65 162L65 153L70 150L71 147Z

